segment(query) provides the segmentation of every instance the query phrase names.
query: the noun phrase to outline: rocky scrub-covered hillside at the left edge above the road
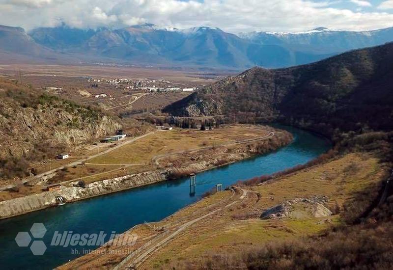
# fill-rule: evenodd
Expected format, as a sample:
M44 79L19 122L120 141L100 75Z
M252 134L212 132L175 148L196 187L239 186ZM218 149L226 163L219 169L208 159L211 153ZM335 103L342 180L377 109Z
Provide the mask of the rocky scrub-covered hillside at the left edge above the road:
M120 127L102 112L0 80L0 170L18 167L21 159L53 158L65 149L113 134Z

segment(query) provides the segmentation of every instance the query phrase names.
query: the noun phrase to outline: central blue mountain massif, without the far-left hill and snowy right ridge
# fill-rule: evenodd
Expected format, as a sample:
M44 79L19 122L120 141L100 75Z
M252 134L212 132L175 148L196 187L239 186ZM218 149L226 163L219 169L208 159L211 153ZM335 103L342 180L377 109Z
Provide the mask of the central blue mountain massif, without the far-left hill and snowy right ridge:
M244 69L291 66L326 54L297 52L279 45L254 44L218 28L159 28L145 24L122 29L81 30L64 25L29 32L54 50L143 64Z

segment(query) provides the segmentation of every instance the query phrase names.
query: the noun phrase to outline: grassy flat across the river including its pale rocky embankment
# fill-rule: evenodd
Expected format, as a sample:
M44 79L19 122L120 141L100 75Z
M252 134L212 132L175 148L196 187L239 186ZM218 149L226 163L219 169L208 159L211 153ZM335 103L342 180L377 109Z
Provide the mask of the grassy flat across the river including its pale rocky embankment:
M157 131L52 169L43 173L53 174L45 180L30 181L16 191L0 191L0 218L55 206L56 196L71 202L188 176L275 150L291 140L285 131L251 125ZM55 183L61 187L43 190Z

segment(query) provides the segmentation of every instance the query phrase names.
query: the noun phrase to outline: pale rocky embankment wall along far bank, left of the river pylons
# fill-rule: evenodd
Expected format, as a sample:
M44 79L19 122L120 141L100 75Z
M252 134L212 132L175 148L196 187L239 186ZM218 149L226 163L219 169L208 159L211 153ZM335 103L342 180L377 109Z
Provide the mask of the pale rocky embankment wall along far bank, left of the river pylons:
M0 219L18 216L56 205L56 196L64 197L67 202L78 201L89 197L131 189L166 180L159 171L126 175L86 185L84 188L61 187L59 190L46 191L39 194L0 202Z

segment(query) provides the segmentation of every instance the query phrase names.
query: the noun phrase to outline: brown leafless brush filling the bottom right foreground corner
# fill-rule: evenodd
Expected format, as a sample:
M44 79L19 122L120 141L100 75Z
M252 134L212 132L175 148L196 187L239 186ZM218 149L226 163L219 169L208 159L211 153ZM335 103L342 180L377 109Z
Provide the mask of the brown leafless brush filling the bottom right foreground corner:
M358 225L243 253L212 255L200 264L178 263L174 269L390 269L392 214L393 204L388 202Z

